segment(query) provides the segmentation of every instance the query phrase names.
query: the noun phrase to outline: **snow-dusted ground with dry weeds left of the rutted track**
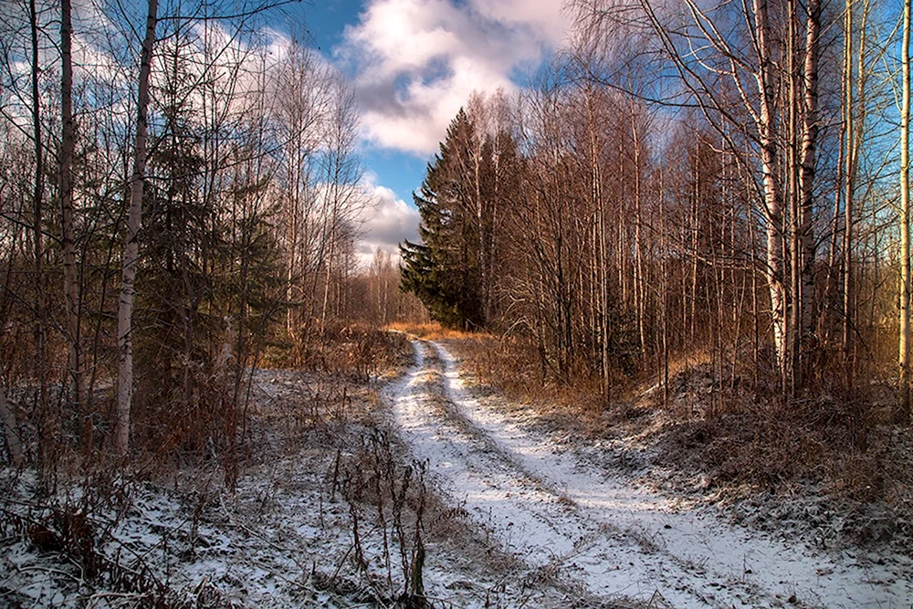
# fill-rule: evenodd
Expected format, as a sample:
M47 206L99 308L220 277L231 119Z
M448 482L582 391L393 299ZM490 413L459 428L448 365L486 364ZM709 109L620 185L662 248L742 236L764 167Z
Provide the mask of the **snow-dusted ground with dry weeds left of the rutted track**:
M79 474L61 476L48 498L37 493L34 472L0 470L0 607L402 606L403 557L389 497L382 520L370 484L361 499L345 488L365 465L365 442L389 436L395 444L378 425L388 404L369 388L343 392L321 375L258 371L255 380L256 457L235 493L223 488L217 460L115 478L106 493L93 488L86 503ZM393 458L394 478L415 471L407 456ZM371 480L373 470L362 474ZM414 502L415 475L411 488ZM73 548L41 541L41 527L61 533L55 511L87 516L99 559L94 577ZM433 606L582 606L573 591L499 551L433 489L424 522L425 595ZM408 558L414 506L403 506L403 523Z

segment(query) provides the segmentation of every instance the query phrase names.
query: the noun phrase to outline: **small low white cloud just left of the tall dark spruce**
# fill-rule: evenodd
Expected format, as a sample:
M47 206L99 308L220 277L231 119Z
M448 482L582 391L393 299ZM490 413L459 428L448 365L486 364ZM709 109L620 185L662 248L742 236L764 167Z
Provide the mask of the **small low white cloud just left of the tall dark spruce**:
M374 204L364 213L362 237L357 245L357 254L363 265L370 263L374 252L380 247L399 258L398 245L404 240L418 240L418 210L396 198L394 191L385 186L372 184L368 188L373 194Z

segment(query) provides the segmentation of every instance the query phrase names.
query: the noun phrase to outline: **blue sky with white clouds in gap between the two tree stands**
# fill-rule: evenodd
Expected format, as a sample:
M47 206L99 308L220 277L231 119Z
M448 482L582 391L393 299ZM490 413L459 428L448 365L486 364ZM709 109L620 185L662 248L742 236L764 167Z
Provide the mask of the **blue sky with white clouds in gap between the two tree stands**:
M377 205L359 253L417 239L412 193L473 90L523 87L566 36L561 0L305 0L310 36L349 79Z

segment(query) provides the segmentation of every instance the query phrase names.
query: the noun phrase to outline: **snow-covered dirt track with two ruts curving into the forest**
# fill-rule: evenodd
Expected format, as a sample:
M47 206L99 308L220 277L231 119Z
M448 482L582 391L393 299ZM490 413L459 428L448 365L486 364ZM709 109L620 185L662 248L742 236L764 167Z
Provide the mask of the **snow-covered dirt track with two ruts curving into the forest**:
M675 607L908 607L908 562L862 564L690 511L601 471L468 389L436 342L388 391L414 456L508 551L596 600Z

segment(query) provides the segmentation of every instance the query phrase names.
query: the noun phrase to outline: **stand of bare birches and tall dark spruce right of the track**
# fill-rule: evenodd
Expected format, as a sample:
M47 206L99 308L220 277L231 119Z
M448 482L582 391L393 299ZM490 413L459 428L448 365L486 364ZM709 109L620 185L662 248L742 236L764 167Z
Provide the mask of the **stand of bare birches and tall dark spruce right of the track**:
M607 393L705 358L787 401L890 383L905 424L892 8L575 3L530 91L452 121L404 289L447 326L532 341L543 381Z

